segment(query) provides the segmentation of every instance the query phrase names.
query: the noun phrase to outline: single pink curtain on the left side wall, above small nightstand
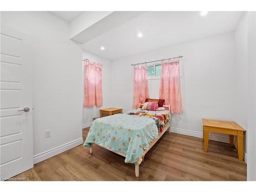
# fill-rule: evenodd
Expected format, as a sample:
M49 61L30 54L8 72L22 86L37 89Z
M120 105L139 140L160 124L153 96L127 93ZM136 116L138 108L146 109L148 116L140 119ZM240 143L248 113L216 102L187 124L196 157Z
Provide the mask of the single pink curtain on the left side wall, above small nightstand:
M84 106L102 105L102 69L101 66L89 62L84 66Z

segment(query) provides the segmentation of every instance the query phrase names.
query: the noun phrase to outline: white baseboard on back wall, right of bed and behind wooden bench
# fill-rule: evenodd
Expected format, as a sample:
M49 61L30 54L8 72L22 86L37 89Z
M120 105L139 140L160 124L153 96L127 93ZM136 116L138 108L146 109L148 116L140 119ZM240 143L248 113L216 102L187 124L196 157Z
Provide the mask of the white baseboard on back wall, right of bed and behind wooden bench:
M182 134L182 135L188 135L188 136L203 138L203 133L201 133L201 132L183 130L183 129L178 129L178 128L175 128L175 127L171 127L170 131L173 132L173 133L178 133L178 134ZM229 136L228 135L223 135L222 136L222 135L209 134L209 139L214 140L214 141L223 142L223 143L229 143Z

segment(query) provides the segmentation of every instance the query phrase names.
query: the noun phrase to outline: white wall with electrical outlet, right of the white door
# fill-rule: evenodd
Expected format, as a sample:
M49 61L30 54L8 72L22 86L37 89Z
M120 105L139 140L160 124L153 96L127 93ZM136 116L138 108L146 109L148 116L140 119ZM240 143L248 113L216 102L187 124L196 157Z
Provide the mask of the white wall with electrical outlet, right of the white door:
M32 38L34 156L81 144L82 52L69 40L69 24L49 12L1 12L1 25Z

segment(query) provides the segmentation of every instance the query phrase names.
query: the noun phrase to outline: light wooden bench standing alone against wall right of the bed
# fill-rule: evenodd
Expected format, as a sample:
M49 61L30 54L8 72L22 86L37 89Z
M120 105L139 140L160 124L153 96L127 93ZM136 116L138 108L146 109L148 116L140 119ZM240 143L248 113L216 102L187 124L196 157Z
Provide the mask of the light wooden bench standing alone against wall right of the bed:
M233 145L234 135L238 136L238 159L244 159L244 132L245 130L239 124L233 121L221 121L212 119L203 119L204 131L204 151L208 151L209 132L216 132L229 135L229 143Z

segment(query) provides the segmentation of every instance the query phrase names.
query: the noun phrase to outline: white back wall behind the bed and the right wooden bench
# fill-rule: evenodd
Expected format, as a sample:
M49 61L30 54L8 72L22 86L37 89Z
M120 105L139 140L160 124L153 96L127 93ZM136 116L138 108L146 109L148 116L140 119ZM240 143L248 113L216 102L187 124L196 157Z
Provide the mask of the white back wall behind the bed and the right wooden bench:
M174 131L202 137L202 118L233 120L233 33L190 41L112 61L112 106L132 109L133 67L131 63L183 55L181 94L183 113L172 115ZM150 97L159 97L159 79L148 80ZM185 131L184 131L185 130ZM217 140L227 140L225 135ZM214 139L214 138L212 138ZM216 139L216 138L215 138Z

